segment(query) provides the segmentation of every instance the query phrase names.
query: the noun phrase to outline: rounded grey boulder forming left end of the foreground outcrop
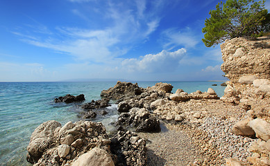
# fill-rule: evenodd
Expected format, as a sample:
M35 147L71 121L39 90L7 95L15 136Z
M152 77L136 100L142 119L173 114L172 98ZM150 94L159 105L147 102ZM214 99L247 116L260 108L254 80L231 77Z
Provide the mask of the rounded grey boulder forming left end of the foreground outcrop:
M53 145L51 142L56 142L54 131L58 127L61 127L59 122L56 122L56 120L49 120L40 124L40 126L35 129L31 135L30 142L27 147L29 155L27 157L28 162L37 162L44 151Z

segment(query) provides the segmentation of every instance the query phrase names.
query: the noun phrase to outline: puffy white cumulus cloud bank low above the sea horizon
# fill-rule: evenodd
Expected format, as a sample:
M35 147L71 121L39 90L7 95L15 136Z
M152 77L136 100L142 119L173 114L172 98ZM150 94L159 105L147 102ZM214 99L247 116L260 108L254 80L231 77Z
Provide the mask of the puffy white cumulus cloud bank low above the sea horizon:
M174 52L162 50L158 54L149 54L138 59L124 59L122 68L127 71L144 71L144 72L167 72L174 71L179 65L180 59L185 55L185 48L181 48Z

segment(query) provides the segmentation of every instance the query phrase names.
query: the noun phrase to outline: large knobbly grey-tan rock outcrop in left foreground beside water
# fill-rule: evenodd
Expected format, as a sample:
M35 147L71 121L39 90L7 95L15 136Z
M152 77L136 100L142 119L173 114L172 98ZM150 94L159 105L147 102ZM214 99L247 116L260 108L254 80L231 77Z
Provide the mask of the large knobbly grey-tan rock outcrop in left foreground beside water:
M110 140L100 122L67 122L63 127L54 120L40 124L27 147L30 163L36 165L72 164L94 147L110 153Z

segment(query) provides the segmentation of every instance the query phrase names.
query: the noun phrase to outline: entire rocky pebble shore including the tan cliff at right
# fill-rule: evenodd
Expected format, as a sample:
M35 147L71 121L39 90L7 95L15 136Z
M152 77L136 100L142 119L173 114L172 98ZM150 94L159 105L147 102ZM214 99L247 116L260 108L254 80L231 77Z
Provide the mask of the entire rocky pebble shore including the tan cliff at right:
M221 69L230 82L220 99L211 88L171 93L173 86L167 83L143 89L117 82L101 92L102 100L81 106L86 118L94 118L109 100L116 100L115 133L108 136L103 124L91 121L63 127L44 122L31 136L28 161L66 166L270 165L269 43L270 37L264 37L221 44Z

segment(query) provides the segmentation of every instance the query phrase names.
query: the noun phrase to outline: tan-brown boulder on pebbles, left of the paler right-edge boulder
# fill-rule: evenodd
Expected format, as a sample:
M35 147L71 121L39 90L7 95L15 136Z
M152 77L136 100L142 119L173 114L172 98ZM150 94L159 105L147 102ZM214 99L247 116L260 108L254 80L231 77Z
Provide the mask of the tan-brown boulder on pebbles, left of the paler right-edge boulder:
M237 136L255 136L255 132L248 126L249 120L240 120L233 125L233 133Z

